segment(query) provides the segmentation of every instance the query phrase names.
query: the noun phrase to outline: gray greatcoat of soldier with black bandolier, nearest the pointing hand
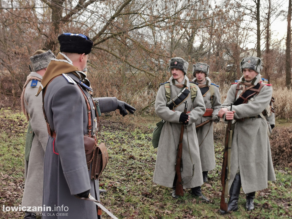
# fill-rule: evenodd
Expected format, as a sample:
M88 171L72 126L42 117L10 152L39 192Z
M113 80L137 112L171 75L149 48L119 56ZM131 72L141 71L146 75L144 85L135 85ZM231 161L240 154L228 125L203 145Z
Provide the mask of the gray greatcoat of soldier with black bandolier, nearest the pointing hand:
M172 79L173 77L169 79L171 87L171 100L181 91L181 88L178 88L172 84ZM185 80L187 80L187 87L190 90L189 79L186 76L184 77L182 84L184 84ZM175 83L177 84L178 82L175 80ZM203 184L195 122L204 114L205 105L199 88L194 102L191 101L190 95L186 100L188 103L187 111L190 111L190 120L183 135L183 171L181 172L181 175L183 182L185 183L183 188L193 188ZM174 111L172 111L166 107L166 101L165 88L164 86L160 86L155 100L155 112L157 116L163 120L166 120L166 122L161 130L161 135L159 138L153 182L166 187L173 187L173 180L175 177L175 159L180 137L180 129L182 126L182 123L179 122L179 118L181 112L184 110L185 104L182 103L176 107ZM193 165L194 175L192 171Z

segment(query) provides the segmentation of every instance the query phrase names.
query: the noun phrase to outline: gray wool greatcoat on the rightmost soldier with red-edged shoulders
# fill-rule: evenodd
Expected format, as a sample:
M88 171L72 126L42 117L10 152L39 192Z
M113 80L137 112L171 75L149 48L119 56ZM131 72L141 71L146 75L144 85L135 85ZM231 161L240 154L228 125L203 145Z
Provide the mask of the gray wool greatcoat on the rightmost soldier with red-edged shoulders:
M255 84L260 81L261 76L258 74L256 78ZM227 107L230 110L230 104L236 100L236 87L237 84L231 85L222 107ZM241 90L238 92L237 98L240 93ZM271 97L272 87L263 86L260 93L253 97L254 100L252 102L232 106L232 110L235 111L234 118L241 119L259 115L269 105ZM223 121L227 122L225 115ZM263 190L267 188L268 180L276 180L267 133L268 126L266 119L262 118L251 118L235 122L231 145L228 191L238 168L244 193Z

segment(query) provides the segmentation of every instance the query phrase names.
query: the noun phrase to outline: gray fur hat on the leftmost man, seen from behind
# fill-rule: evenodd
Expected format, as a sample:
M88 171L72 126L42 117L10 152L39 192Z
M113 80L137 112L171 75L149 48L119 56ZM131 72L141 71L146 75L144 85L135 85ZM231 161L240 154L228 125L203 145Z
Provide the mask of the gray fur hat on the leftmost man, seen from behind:
M31 57L33 71L37 72L41 69L48 67L51 59L56 58L51 50L44 51L38 50Z

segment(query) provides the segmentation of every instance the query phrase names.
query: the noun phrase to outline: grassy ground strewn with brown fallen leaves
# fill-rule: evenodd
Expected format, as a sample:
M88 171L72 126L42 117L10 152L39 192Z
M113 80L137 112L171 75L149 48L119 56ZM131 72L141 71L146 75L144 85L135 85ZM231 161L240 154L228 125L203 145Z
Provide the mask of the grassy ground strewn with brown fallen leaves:
M292 218L291 169L275 167L277 181L256 192L254 211L245 211L241 191L239 211L220 215L220 141L215 145L216 168L202 186L211 204L191 197L189 189L184 197L173 199L170 188L152 183L156 160L156 149L151 144L153 126L138 126L130 121L134 117L117 120L101 119L101 141L106 142L110 159L100 187L108 190L101 195L102 203L118 218ZM0 218L23 218L23 212L3 212L2 206L21 204L27 123L19 110L2 108L0 126ZM109 217L103 213L103 218Z

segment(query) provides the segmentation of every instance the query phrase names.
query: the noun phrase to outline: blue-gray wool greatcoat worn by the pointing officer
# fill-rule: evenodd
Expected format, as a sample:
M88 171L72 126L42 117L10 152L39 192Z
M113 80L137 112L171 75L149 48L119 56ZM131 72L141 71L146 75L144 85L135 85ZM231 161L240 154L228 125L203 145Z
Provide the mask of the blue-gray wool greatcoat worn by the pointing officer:
M74 74L67 75L81 84ZM95 105L88 91L82 88L91 106L92 134L96 134ZM117 98L101 98L100 106L103 106L102 112L114 111ZM51 129L56 132L56 139L49 136L44 163L43 204L50 206L53 212L45 209L42 218L97 218L94 202L74 197L74 194L90 190L90 194L99 200L98 180L90 179L91 169L88 171L86 165L83 135L88 133L88 114L81 90L77 84L60 75L47 86L44 108ZM55 206L59 207L58 211L55 211ZM62 206L67 208L62 210ZM68 215L62 217L60 213Z

